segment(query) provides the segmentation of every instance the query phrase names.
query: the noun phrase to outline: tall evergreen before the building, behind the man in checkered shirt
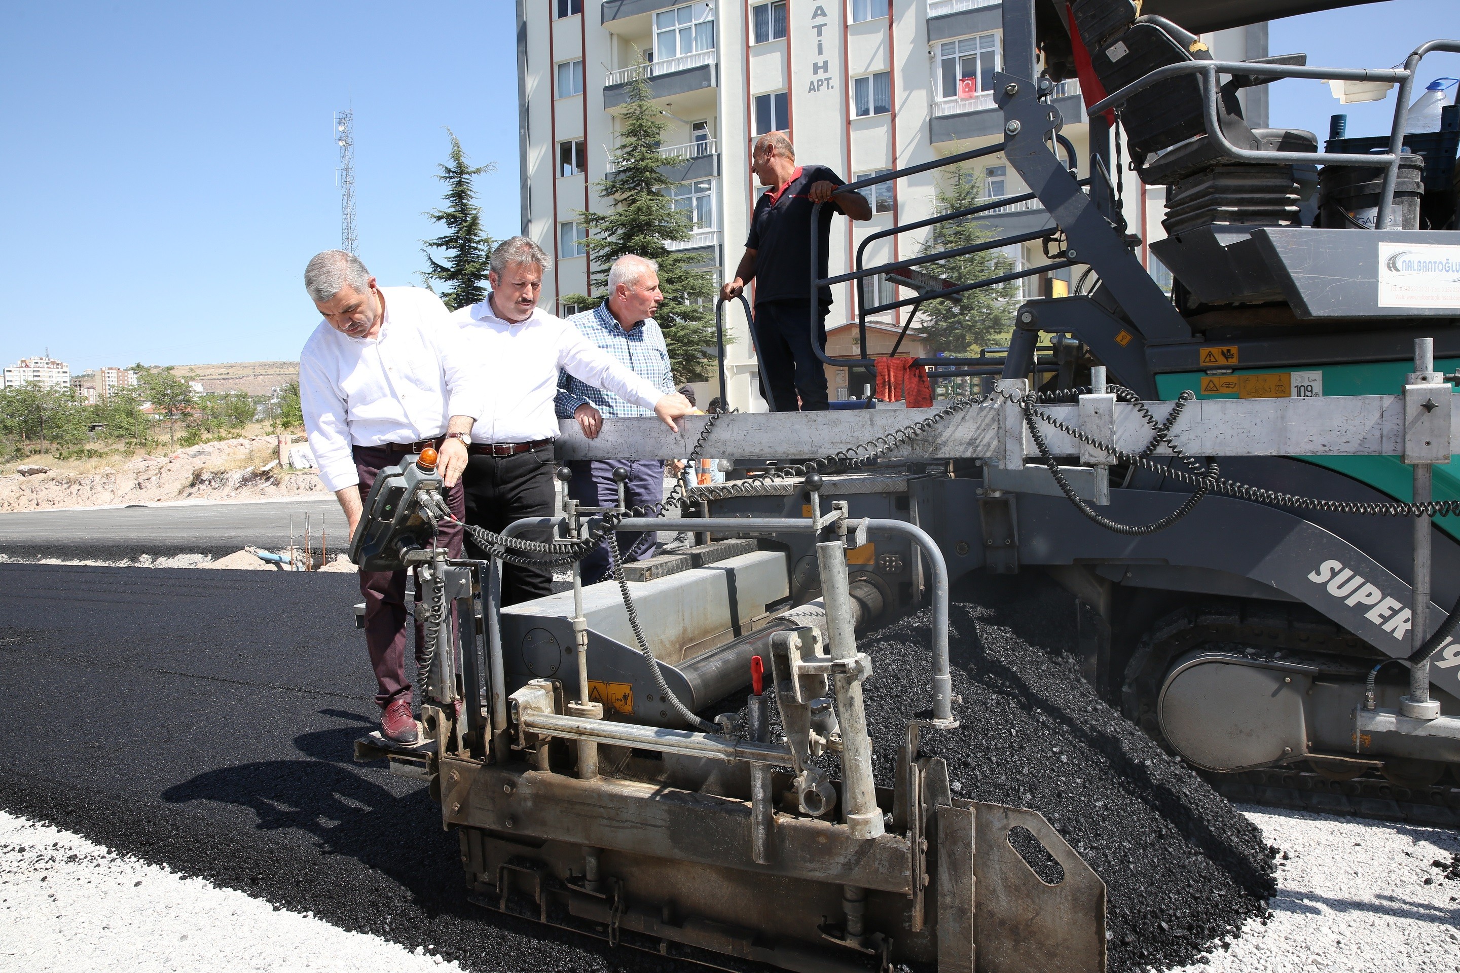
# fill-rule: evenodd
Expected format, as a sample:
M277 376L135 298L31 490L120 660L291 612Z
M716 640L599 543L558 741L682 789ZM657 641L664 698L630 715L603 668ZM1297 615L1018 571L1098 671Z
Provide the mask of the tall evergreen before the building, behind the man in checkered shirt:
M664 165L658 146L666 123L650 101L648 79L635 77L628 93L613 171L597 182L599 195L612 201L612 210L578 213L588 230L590 286L597 296L565 295L562 303L597 306L604 298L609 267L625 254L656 261L664 303L654 319L664 331L675 381L701 381L710 372L712 353L708 349L715 340L715 282L702 267L694 267L688 255L666 247L666 242L689 239L694 223L688 213L675 209L667 194L673 181L658 171Z

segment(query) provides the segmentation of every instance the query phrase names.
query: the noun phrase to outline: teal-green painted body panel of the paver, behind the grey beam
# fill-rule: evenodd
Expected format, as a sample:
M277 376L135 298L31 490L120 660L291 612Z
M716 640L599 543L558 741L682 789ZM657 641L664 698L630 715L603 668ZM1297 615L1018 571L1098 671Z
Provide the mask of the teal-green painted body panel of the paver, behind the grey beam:
M1210 391L1213 379L1225 379L1221 388L1231 388L1234 381L1241 381L1251 397L1272 398L1280 391L1283 382L1280 375L1302 373L1298 382L1299 394L1311 392L1320 395L1394 395L1405 385L1405 376L1413 369L1409 362L1356 362L1348 365L1320 365L1313 368L1260 369L1235 368L1229 375L1209 375L1207 372L1174 372L1156 375L1156 391L1164 400L1172 400L1183 391L1190 389L1197 398L1241 398L1241 391ZM1435 362L1435 369L1441 372L1456 372L1460 369L1460 359L1441 359ZM1313 382L1313 375L1320 375L1318 382ZM1253 376L1238 379L1237 376ZM1270 378L1269 378L1270 376ZM1206 391L1203 391L1206 385ZM1292 394L1294 382L1286 382L1288 395ZM1409 502L1413 499L1413 476L1399 457L1294 457L1304 462L1311 462L1334 473L1342 473L1359 483L1367 483L1380 493L1396 500ZM1460 500L1460 464L1454 460L1445 465L1435 467L1434 497L1437 500ZM1435 525L1445 534L1460 540L1460 522L1456 518L1441 516Z

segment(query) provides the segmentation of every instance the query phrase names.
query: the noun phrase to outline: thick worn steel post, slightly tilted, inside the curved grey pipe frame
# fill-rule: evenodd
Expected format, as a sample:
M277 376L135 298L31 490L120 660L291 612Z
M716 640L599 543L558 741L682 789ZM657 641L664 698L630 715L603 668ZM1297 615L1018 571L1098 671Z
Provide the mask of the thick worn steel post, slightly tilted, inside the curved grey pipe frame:
M847 582L847 546L840 540L816 544L816 563L826 604L826 627L831 630L831 658L854 659L857 633ZM873 839L885 829L872 780L872 738L861 705L861 680L838 672L834 684L837 722L841 724L841 805L847 814L847 830L853 837Z

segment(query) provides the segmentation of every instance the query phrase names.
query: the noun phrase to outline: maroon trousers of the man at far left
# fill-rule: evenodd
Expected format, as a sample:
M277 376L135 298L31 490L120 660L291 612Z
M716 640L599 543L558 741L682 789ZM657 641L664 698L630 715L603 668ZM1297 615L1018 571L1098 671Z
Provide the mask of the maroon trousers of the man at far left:
M385 467L400 465L406 454L384 446L355 446L355 471L361 477L361 499L369 493L375 477ZM466 495L461 483L447 487L447 506L458 521L466 521ZM442 524L438 534L451 557L461 556L461 527ZM369 648L369 664L375 670L380 691L375 702L381 709L397 697L410 702L410 680L406 678L406 572L362 570L361 594L365 595L365 645ZM420 589L416 589L416 601ZM416 659L425 645L425 624L416 616Z

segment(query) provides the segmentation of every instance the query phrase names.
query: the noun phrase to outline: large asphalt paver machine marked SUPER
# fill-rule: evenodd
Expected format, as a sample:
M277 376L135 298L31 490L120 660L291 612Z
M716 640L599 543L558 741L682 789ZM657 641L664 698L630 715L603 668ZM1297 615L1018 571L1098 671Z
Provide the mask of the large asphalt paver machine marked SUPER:
M1003 153L1056 225L1050 264L1018 273L1092 271L1088 292L1019 306L1000 360L939 359L987 394L677 433L618 420L591 442L565 427L562 458L740 473L658 509L569 502L550 541L472 528L482 560L435 548L450 512L429 457L381 474L350 554L418 569L428 740L365 738L358 757L429 780L476 902L723 969L1102 970L1099 878L1041 815L956 796L918 750L956 725L949 588L980 570L1069 588L1088 677L1191 764L1454 813L1437 782L1460 763L1460 547L1432 518L1460 512L1460 244L1453 203L1416 203L1450 190L1431 187L1442 149L1416 162L1403 131L1421 58L1460 44L1339 70L1223 63L1197 36L1326 6L1004 0L1004 139L845 188ZM1105 92L1091 115L1118 120L1136 177L1169 187L1172 295L1133 254L1121 175L1096 150L1082 177L1061 143L1051 95L1075 74ZM1235 92L1280 77L1397 85L1381 150L1247 125ZM915 303L991 283L910 273L949 255L807 286L891 273ZM580 584L591 546L645 530L695 543ZM501 567L524 560L572 566L572 591L502 607ZM934 675L882 788L857 633L923 602ZM1337 789L1365 780L1391 791ZM1031 842L1063 881L1035 874Z

